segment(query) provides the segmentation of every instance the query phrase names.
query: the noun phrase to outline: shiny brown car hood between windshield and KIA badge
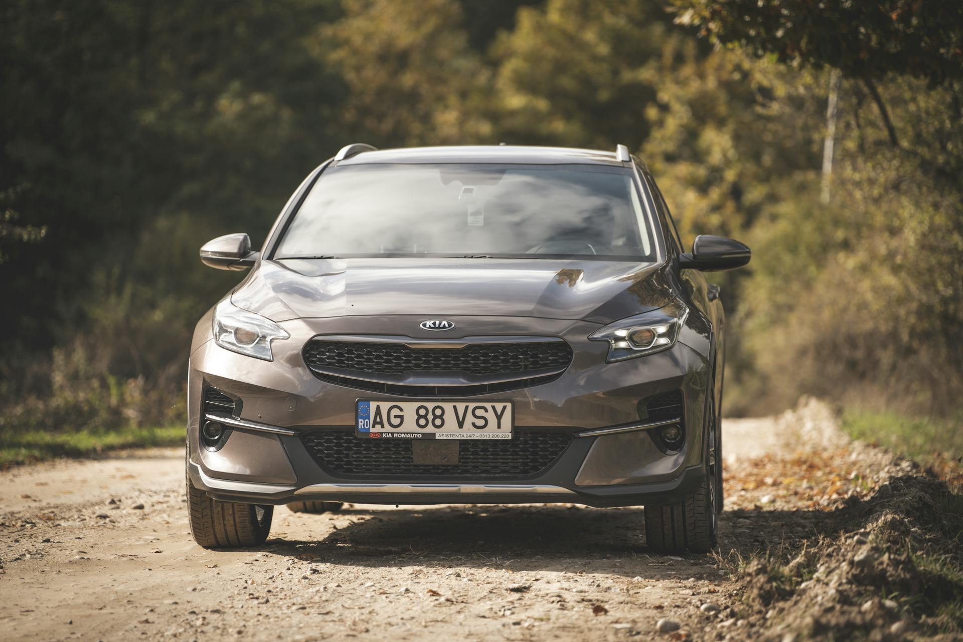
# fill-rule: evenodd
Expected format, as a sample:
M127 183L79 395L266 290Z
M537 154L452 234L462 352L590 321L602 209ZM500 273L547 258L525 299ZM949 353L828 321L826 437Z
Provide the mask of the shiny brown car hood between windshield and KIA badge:
M664 266L549 259L260 261L231 295L273 321L360 315L537 317L608 323L663 307Z

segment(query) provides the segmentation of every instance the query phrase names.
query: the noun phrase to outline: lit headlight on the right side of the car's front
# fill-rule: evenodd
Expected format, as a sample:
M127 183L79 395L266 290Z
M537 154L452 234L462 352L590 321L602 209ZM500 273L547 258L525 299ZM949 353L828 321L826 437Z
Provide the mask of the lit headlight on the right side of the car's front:
M607 363L654 354L675 346L688 316L686 304L675 299L658 310L613 321L588 339L609 342Z

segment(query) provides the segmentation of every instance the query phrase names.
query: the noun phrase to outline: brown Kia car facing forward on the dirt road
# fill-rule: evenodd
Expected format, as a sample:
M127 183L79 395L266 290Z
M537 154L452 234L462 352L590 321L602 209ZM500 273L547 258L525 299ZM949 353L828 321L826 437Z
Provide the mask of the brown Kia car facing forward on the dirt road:
M652 175L612 151L377 150L315 169L197 323L187 488L198 544L256 545L273 506L645 506L705 552L722 507L725 318Z

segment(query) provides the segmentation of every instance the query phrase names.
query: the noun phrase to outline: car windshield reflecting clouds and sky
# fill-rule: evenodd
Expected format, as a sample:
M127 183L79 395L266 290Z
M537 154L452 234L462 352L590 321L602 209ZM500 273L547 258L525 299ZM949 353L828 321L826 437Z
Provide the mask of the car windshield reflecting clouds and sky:
M633 172L625 167L325 169L274 258L370 256L656 258Z

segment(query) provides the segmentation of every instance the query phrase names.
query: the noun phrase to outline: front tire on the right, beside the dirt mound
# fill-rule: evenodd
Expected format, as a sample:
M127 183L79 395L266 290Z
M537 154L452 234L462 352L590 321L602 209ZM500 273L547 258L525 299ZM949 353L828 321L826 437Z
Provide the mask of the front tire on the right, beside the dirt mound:
M715 402L710 402L706 475L684 501L645 506L645 542L654 552L710 552L716 546L718 463Z

